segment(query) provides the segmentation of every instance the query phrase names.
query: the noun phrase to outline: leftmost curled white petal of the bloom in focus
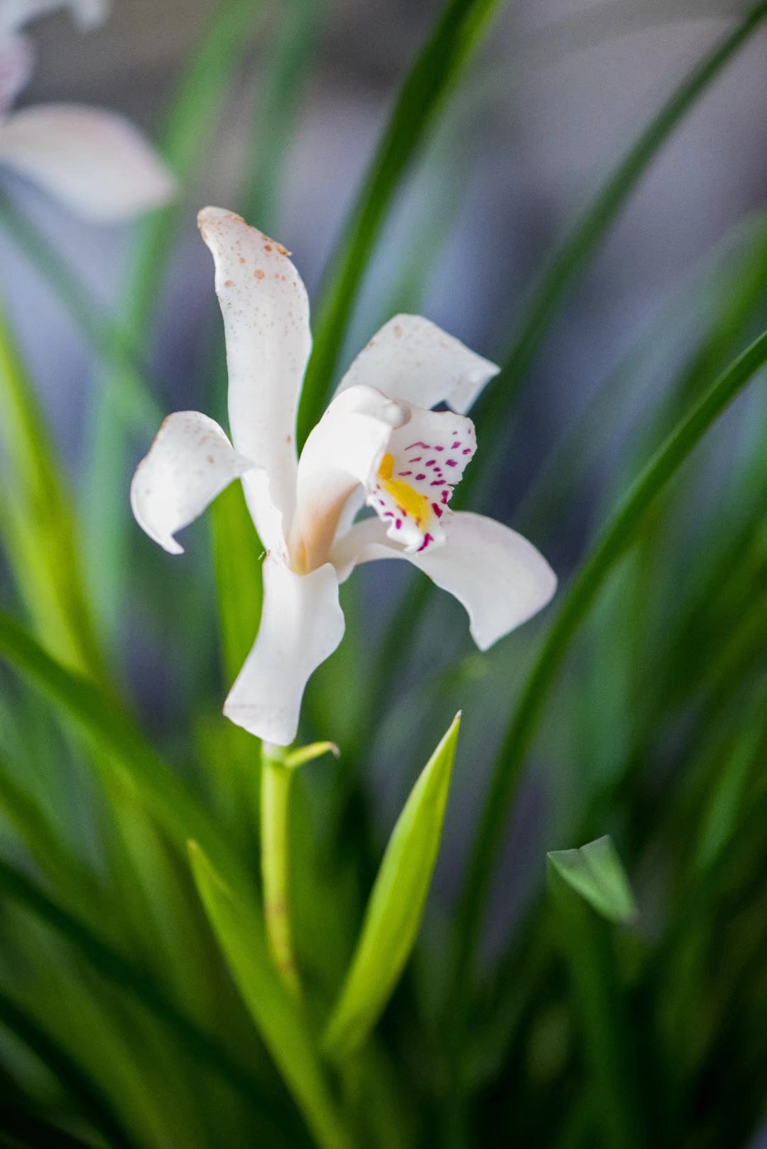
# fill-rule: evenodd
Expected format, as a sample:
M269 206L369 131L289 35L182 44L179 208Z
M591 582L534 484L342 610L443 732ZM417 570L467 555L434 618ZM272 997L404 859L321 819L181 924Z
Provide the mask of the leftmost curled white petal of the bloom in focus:
M253 464L236 452L217 423L199 411L170 415L136 470L130 502L139 526L171 555L174 539Z

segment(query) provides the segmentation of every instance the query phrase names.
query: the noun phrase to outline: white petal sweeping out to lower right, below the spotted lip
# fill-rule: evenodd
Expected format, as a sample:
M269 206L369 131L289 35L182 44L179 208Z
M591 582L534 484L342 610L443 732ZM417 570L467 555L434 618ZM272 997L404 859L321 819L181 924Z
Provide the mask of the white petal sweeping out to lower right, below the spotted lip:
M336 542L331 557L342 581L356 563L407 558L462 603L481 650L542 610L557 589L557 576L531 542L469 511L457 511L445 524L444 545L422 554L408 554L390 542L378 519L366 519Z

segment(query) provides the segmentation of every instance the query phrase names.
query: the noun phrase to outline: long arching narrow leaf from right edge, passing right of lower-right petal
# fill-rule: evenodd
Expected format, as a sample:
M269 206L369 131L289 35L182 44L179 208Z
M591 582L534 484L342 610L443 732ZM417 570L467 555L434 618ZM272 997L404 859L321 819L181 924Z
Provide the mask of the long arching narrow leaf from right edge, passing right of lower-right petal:
M528 676L485 796L461 899L455 986L460 985L465 977L478 940L494 857L503 840L516 781L536 723L543 714L549 689L565 655L607 576L637 537L655 496L670 481L722 411L765 363L767 363L767 332L735 360L687 417L680 421L605 524L569 589L560 600L559 614Z

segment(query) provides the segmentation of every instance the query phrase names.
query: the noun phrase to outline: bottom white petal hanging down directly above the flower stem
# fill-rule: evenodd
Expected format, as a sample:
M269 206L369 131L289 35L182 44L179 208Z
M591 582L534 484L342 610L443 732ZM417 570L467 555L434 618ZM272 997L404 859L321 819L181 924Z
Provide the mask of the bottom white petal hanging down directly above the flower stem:
M263 562L263 612L255 645L224 714L258 738L290 746L309 676L344 637L338 577L327 563L296 574L275 553Z

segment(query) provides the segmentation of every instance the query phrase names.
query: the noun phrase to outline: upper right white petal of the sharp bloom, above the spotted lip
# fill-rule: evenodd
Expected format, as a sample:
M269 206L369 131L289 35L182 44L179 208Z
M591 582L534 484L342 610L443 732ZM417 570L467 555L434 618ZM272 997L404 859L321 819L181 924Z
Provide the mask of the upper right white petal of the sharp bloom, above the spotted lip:
M462 414L499 370L429 319L396 315L356 356L338 392L362 383L415 407L446 402Z

